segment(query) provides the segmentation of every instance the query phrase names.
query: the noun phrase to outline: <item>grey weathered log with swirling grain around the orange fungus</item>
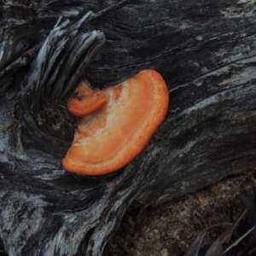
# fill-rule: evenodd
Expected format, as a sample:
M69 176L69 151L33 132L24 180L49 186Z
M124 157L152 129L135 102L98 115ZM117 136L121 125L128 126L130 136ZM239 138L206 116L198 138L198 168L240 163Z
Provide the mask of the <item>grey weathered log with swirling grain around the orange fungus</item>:
M17 2L0 1L9 256L102 255L132 201L160 204L255 168L255 1ZM103 88L146 68L166 80L170 105L142 154L103 177L66 172L66 103L79 80Z

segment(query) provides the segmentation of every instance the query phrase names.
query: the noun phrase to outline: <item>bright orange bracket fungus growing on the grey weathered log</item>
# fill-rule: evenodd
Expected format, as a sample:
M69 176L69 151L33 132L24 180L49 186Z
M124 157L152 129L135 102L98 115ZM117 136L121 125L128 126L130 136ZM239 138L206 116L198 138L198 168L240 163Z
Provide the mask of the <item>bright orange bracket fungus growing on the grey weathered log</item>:
M154 70L104 90L82 82L67 102L79 119L62 165L90 176L117 171L146 146L165 118L168 102L166 83Z

